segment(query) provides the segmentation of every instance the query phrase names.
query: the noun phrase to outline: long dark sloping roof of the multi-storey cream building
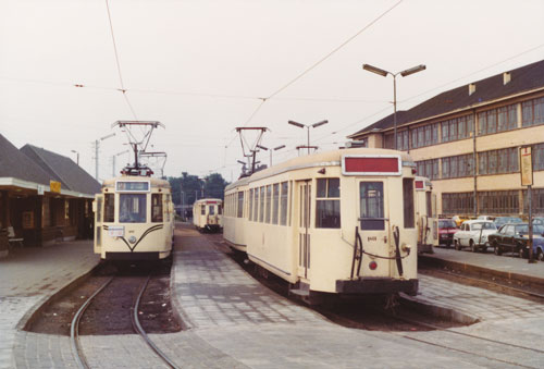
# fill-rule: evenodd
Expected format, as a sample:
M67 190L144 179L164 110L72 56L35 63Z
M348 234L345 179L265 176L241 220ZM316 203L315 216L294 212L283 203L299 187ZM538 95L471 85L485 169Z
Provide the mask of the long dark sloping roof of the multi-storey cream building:
M407 111L397 111L397 126L544 87L544 60L509 71L509 73L510 82L506 85L503 83L504 73L500 73L472 83L475 85L475 91L472 95L469 95L469 85L463 85L438 94ZM384 131L392 128L393 125L393 114L391 114L348 137L369 133L373 128Z

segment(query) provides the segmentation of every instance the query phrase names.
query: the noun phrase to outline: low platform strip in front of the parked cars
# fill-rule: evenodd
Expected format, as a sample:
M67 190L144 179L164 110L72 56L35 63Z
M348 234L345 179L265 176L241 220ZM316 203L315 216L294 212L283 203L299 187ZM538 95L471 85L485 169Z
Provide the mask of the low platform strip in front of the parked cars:
M514 254L496 256L490 251L484 254L435 247L434 254L421 254L420 259L480 274L533 283L541 285L544 293L544 262L529 263L527 259Z

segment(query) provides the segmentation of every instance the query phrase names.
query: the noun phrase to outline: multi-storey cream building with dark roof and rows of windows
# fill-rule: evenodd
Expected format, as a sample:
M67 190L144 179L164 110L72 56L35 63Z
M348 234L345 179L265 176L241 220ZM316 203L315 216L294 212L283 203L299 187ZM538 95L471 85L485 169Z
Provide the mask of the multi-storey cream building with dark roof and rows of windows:
M393 114L348 136L394 147ZM544 214L544 60L397 111L397 149L432 181L438 214L527 216L520 148L531 147L533 214Z

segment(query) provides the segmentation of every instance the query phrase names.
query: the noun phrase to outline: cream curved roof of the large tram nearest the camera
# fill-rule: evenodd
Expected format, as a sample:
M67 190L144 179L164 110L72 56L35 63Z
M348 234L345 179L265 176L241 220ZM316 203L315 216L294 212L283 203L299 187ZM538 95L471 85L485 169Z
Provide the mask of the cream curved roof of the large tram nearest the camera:
M376 148L367 148L367 147L360 147L360 148L349 148L349 149L338 149L338 150L331 150L331 151L323 151L323 152L317 152L304 157L298 157L294 158L287 161L284 161L280 164L276 164L274 167L264 169L262 171L256 172L251 174L250 176L240 179L239 181L236 181L232 183L231 185L226 186L225 189L232 189L238 186L244 186L247 185L254 181L258 181L268 176L276 175L280 173L284 173L287 171L292 170L297 170L297 169L304 169L307 168L311 164L314 164L317 167L319 165L331 165L331 164L336 164L341 165L341 160L343 156L346 155L368 155L368 156L380 156L380 155L399 155L400 159L403 162L412 162L411 157L404 151L397 151L397 150L391 150L391 149L376 149Z

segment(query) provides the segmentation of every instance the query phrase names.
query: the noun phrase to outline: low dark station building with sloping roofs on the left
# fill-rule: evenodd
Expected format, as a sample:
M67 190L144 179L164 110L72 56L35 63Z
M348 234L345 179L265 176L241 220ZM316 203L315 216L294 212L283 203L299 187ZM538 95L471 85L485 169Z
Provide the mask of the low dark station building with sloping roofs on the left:
M100 184L72 159L0 134L0 256L8 246L92 237ZM11 229L11 234L10 234Z

